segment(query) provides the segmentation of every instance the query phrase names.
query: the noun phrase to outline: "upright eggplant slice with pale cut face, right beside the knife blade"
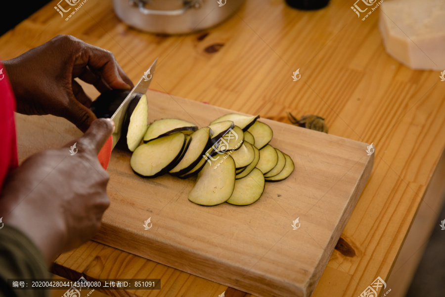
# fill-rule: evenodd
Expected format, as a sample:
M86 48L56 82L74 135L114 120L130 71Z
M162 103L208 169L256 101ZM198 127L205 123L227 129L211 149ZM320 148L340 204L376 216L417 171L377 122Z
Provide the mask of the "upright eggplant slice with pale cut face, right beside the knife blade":
M145 94L140 95L132 99L127 110L127 146L131 151L139 146L148 127L147 96Z

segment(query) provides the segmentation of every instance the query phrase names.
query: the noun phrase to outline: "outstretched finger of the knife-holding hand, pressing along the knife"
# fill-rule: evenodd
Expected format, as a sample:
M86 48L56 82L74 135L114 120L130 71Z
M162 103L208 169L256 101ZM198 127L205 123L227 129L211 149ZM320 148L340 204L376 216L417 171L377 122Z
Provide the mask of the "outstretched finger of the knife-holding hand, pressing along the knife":
M78 143L80 143L83 148L90 148L92 152L97 155L113 132L114 122L111 119L97 119L92 122Z

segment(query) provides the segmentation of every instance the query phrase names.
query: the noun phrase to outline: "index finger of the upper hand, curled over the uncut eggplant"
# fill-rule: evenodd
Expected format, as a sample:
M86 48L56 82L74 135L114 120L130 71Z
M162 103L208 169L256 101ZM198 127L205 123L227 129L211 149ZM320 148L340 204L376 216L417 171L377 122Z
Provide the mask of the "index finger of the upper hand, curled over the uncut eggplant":
M126 83L119 74L119 64L111 51L86 44L85 55L76 58L75 65L84 64L92 70L100 73L103 80L113 89L131 90L132 87Z

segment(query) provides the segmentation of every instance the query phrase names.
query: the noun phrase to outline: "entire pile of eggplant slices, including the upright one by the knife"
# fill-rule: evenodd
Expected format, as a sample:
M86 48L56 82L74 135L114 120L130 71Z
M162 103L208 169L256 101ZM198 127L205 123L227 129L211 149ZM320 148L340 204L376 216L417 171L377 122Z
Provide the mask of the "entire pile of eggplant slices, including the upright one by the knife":
M259 116L231 113L201 129L184 120L161 119L147 128L147 99L133 100L126 119L133 171L146 178L197 175L188 197L196 204L252 204L265 182L282 181L294 170L290 156L268 144L273 132L257 121Z

